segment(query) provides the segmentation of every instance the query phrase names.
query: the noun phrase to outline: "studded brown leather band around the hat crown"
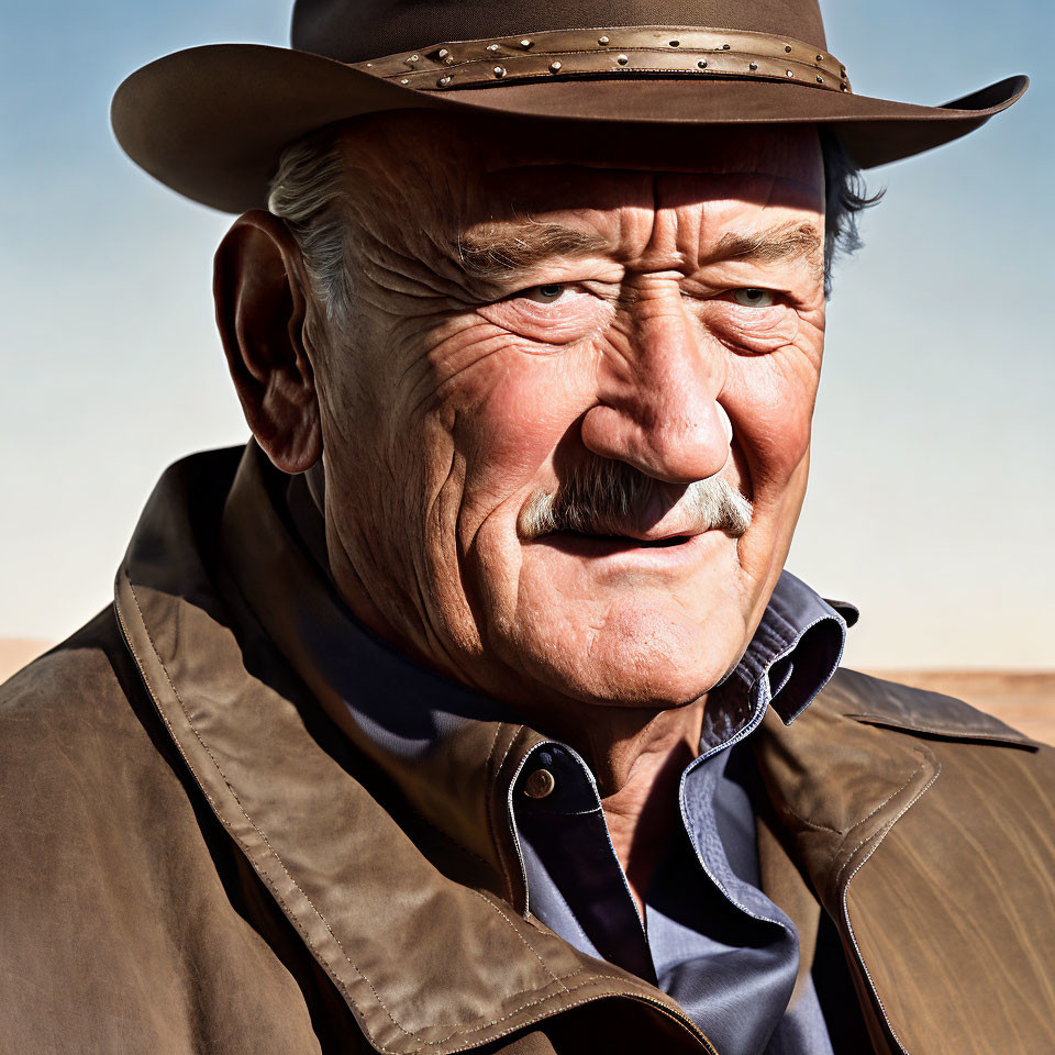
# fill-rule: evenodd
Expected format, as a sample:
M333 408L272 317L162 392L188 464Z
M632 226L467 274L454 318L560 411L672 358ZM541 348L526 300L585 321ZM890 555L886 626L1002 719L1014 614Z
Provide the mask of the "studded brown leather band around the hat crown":
M787 36L702 26L617 25L452 41L354 64L425 91L600 76L780 80L849 91L846 67Z

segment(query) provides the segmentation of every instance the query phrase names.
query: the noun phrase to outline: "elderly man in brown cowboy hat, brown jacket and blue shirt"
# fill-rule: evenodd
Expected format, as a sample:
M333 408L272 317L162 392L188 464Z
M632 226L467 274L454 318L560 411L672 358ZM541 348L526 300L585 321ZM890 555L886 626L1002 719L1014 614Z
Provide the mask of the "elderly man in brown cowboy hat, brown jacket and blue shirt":
M3 690L0 1050L1055 1050L1051 749L837 670L782 570L857 166L1024 81L871 100L810 0L646 7L301 0L122 87L248 210L254 440Z

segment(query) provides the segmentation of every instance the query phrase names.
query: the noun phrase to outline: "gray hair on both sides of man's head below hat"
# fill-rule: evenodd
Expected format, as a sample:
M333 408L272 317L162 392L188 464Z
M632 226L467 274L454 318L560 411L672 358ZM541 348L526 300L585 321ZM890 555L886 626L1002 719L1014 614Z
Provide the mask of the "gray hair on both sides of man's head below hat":
M824 162L824 296L832 291L832 265L862 247L858 216L882 197L868 196L860 170L842 141L820 129ZM271 180L267 208L289 225L300 245L311 291L329 324L349 324L353 308L349 220L343 208L344 185L341 129L330 126L287 147Z

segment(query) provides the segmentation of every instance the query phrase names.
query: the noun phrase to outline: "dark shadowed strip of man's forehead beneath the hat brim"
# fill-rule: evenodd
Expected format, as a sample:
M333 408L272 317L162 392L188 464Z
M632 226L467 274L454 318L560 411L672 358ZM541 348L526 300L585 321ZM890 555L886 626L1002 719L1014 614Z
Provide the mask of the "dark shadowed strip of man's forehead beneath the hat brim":
M411 111L357 125L348 145L370 184L384 170L385 186L401 185L399 198L451 233L525 214L708 200L823 212L813 125L649 129Z

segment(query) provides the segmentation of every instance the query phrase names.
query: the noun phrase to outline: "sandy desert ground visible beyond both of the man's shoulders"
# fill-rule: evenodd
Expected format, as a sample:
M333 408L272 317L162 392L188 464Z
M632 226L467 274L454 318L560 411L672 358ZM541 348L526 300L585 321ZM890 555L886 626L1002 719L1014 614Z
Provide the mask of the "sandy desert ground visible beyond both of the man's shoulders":
M0 681L45 652L51 642L0 637ZM869 670L890 681L944 692L996 714L1009 725L1055 745L1055 670Z

